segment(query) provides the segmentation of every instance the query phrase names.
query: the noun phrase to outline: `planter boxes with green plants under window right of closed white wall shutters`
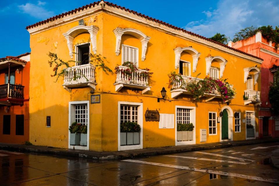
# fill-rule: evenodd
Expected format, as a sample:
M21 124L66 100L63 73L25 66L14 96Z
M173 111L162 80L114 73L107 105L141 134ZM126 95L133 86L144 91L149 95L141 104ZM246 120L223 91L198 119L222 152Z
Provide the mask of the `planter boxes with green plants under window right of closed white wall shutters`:
M194 125L189 124L177 124L177 141L191 141L193 140Z

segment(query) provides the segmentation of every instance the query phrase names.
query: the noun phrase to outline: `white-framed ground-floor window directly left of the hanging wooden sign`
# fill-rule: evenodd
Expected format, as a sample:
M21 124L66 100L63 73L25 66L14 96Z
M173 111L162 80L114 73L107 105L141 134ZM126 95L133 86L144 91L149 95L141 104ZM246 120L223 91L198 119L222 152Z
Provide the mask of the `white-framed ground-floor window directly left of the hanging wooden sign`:
M143 145L143 103L137 102L118 102L118 151L142 149ZM136 143L121 144L120 124L125 122L135 122L140 125L138 136L133 136L132 139ZM129 135L128 133L126 135ZM135 134L133 134L135 135ZM127 137L127 136L126 136ZM134 139L137 138L137 139ZM127 138L126 138L127 139Z

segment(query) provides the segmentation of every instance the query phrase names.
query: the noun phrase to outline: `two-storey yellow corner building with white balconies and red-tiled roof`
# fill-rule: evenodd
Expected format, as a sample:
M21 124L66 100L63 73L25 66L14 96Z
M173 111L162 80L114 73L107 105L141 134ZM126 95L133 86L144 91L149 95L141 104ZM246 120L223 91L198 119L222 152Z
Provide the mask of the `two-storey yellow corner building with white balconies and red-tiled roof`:
M27 30L31 47L30 142L34 145L117 151L254 139L258 135L256 106L261 103L262 63L258 57L103 1ZM121 71L106 73L88 63L88 56L83 57L88 50L106 57L112 70L117 65L127 69L121 66L125 61L133 62L138 70L133 78ZM71 62L64 79L55 83L49 52L64 61L83 62ZM151 78L140 77L145 68L153 72ZM181 81L170 83L172 71L181 72L182 76L176 76ZM228 79L236 94L225 99L213 90L199 96L199 101L193 100L179 83L200 81L191 78L198 74L201 79ZM162 87L167 93L158 99L162 98ZM160 121L146 121L150 119L145 117L147 110L158 110ZM69 126L74 121L87 125L86 145L70 144ZM120 123L125 121L141 126L131 145L120 140ZM194 125L189 140L180 139L178 123ZM246 124L254 126L252 132L246 132Z

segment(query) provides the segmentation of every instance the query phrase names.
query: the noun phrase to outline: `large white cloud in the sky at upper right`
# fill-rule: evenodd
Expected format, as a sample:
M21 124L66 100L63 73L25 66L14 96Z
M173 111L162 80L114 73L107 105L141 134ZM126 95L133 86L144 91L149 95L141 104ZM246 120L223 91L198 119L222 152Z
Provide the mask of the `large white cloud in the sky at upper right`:
M279 1L262 0L220 0L216 10L201 13L206 19L189 22L185 29L205 37L222 33L233 38L240 29L248 26L278 26Z

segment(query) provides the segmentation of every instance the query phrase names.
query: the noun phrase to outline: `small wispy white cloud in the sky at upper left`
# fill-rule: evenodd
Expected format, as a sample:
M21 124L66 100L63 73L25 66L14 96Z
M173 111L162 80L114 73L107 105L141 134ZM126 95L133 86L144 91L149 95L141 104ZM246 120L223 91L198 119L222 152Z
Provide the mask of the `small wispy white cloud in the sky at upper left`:
M23 13L29 14L33 17L40 18L40 19L46 19L54 15L53 11L48 11L42 5L44 5L45 2L38 1L38 4L32 4L32 3L26 3L25 5L19 5L19 9L23 11Z

